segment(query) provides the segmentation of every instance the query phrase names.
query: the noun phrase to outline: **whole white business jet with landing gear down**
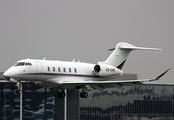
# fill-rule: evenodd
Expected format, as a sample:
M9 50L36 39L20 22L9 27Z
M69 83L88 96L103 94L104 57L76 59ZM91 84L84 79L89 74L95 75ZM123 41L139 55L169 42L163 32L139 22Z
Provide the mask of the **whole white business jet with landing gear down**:
M81 89L80 97L87 98L87 91L94 89L104 91L106 88L122 88L135 86L143 82L159 80L168 70L156 78L142 80L114 80L123 75L122 67L129 53L133 50L161 50L157 48L136 47L126 42L120 42L111 55L97 64L53 60L24 59L17 61L3 76L7 81L15 79L18 85L17 94L21 93L21 81L34 82L58 91L57 96L65 97L64 89Z

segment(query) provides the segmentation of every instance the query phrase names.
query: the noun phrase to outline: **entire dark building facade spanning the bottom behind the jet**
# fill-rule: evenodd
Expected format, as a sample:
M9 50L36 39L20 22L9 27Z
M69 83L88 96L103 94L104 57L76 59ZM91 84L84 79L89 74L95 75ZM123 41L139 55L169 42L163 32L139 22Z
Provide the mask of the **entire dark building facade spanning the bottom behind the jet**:
M136 75L124 77L136 78ZM20 96L15 83L0 82L0 120L18 120ZM123 78L125 79L125 78ZM105 92L93 90L79 97L79 90L68 91L68 120L173 120L174 85L137 85ZM63 120L64 99L57 92L32 83L23 83L23 120Z

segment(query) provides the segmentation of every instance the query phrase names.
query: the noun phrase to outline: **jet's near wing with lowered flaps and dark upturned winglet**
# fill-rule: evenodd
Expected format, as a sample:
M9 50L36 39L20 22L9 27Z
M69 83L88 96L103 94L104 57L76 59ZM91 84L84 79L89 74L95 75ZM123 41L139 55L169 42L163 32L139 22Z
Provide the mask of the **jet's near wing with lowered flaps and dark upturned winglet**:
M117 87L122 88L123 86L135 86L138 84L142 84L143 82L152 82L159 80L164 74L166 74L169 71L167 69L165 72L160 74L154 79L141 79L141 80L109 80L109 81L68 81L68 80L61 80L58 82L58 84L64 85L64 86L86 86L89 85L93 89L97 89L100 91L103 91L106 88L111 87Z

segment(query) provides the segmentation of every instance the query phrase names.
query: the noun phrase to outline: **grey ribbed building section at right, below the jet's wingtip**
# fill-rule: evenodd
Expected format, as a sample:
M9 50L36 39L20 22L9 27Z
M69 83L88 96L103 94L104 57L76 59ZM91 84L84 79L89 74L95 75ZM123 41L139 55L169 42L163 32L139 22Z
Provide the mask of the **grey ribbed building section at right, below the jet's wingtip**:
M173 85L92 91L89 98L80 99L80 120L173 120L173 103Z

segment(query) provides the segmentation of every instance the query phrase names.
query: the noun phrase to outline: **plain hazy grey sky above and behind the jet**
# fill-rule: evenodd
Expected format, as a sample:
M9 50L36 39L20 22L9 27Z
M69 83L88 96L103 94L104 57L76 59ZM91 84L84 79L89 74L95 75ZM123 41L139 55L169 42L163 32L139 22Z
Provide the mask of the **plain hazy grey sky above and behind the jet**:
M118 42L156 47L133 51L125 73L174 83L173 0L0 0L0 71L17 60L73 59L97 63Z

